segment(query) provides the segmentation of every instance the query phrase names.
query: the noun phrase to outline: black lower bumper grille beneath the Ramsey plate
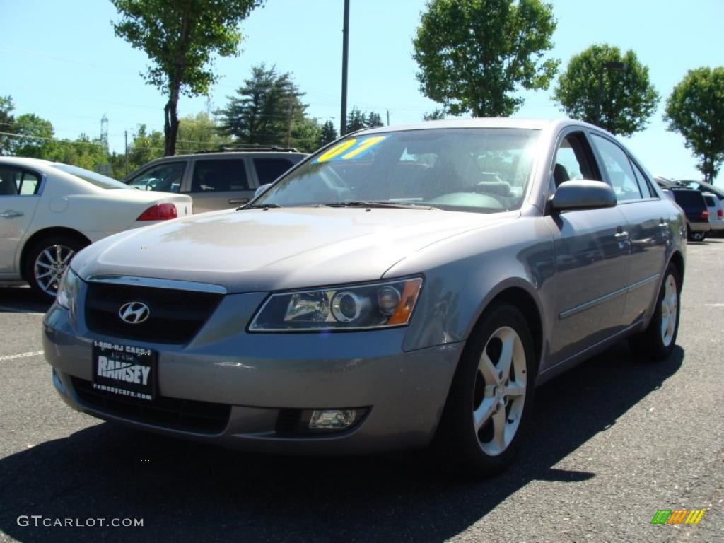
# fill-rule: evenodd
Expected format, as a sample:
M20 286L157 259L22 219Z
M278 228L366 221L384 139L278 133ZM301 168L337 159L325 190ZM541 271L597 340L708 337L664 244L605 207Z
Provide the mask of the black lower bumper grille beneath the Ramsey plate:
M229 424L231 405L163 396L149 402L99 392L85 379L71 377L71 382L85 406L128 421L197 434L220 434Z

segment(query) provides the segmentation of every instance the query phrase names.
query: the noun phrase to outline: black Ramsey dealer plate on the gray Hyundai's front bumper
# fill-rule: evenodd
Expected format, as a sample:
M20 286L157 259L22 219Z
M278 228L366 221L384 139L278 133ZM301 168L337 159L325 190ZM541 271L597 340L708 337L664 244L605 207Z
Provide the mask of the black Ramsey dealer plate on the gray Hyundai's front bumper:
M151 401L156 396L155 350L93 342L93 388L109 395Z

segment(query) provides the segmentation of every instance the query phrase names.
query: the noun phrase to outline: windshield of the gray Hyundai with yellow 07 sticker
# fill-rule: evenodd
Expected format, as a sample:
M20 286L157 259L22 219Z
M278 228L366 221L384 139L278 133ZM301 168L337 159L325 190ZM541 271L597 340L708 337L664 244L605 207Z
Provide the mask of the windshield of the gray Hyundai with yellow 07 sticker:
M311 157L256 206L519 209L538 130L455 128L351 135Z

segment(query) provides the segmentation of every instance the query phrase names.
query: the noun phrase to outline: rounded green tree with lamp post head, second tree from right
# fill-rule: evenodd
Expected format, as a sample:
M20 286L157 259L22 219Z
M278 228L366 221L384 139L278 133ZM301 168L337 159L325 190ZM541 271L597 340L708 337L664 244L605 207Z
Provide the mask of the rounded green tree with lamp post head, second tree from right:
M626 67L610 70L605 67L607 62ZM606 43L573 56L558 77L553 98L571 119L626 136L644 130L659 103L659 94L649 82L649 69L636 53L621 54L618 47Z

